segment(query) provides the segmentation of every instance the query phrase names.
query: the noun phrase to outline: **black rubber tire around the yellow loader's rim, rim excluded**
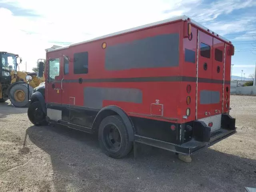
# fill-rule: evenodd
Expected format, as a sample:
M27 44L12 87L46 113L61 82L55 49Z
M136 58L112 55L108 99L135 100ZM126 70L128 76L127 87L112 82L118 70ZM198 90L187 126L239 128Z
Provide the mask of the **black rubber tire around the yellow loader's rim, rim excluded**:
M19 102L19 101L15 100L14 93L17 90L22 90L25 93L25 100L24 101ZM29 86L29 92L30 92L29 94L30 94L30 97L31 97L31 95L33 94L33 88L31 86ZM12 102L12 104L15 107L28 107L28 104L29 104L29 102L28 102L28 84L20 83L20 84L14 85L10 89L9 98L10 98L10 101Z

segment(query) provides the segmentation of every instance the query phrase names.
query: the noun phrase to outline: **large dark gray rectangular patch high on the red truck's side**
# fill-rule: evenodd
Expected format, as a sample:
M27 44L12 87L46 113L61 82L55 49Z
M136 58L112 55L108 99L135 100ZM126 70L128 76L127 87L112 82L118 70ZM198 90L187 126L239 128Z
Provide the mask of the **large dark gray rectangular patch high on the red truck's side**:
M179 65L179 34L162 34L106 47L105 69L175 67Z

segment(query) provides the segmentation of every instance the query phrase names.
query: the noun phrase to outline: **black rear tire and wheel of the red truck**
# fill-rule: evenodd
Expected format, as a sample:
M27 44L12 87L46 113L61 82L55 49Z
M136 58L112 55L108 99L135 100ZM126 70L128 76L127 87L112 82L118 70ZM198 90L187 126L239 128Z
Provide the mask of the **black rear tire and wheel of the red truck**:
M114 130L111 132L110 129ZM117 132L119 132L120 139ZM110 139L110 134L115 135L117 139ZM112 158L122 158L132 150L133 142L129 141L127 128L120 116L108 116L102 120L98 139L104 153Z

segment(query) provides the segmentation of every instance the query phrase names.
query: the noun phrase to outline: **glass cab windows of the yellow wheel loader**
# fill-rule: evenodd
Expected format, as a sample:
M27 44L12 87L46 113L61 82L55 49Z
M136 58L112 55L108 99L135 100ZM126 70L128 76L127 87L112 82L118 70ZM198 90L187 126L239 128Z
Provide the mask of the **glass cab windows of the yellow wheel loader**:
M10 76L10 71L16 70L16 56L12 54L2 54L2 76Z

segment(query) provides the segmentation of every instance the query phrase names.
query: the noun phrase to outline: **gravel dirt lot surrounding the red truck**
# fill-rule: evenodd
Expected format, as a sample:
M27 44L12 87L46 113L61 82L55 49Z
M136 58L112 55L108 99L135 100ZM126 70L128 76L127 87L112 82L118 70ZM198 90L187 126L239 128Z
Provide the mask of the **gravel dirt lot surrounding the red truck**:
M231 96L237 133L192 156L140 145L134 159L104 155L96 138L32 126L26 108L0 104L0 192L235 192L256 187L256 97Z

